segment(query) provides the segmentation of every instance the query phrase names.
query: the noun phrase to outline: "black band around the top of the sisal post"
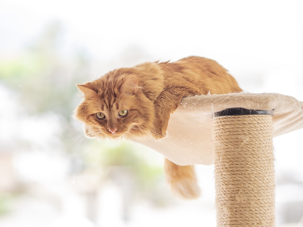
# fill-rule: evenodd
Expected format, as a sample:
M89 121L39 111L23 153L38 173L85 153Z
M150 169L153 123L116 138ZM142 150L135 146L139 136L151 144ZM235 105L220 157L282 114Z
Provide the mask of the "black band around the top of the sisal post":
M229 108L219 112L215 112L215 117L220 116L238 116L238 115L274 115L274 110L254 110L245 108Z

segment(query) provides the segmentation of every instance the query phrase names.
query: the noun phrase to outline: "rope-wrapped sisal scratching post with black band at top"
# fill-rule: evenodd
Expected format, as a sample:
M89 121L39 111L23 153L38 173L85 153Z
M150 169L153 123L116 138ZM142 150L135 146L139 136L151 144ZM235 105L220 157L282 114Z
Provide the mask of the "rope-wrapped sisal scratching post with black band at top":
M272 111L215 113L215 190L218 227L274 227Z

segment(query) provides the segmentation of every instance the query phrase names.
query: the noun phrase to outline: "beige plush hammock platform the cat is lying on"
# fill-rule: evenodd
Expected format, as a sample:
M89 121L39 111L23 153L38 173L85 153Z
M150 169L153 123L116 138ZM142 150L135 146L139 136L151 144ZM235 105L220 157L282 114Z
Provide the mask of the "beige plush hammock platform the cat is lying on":
M212 164L213 113L228 108L274 109L273 136L303 128L303 102L276 93L233 93L192 96L182 99L171 114L168 136L155 141L146 137L139 142L163 154L178 165ZM303 131L300 130L303 136Z

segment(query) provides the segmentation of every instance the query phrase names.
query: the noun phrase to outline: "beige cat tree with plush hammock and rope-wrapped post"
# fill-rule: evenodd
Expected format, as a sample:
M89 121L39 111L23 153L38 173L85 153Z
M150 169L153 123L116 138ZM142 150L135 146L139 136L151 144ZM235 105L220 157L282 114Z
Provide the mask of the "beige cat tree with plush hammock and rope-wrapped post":
M142 141L179 165L215 164L217 226L275 226L272 138L303 128L303 102L275 93L182 99L168 137Z

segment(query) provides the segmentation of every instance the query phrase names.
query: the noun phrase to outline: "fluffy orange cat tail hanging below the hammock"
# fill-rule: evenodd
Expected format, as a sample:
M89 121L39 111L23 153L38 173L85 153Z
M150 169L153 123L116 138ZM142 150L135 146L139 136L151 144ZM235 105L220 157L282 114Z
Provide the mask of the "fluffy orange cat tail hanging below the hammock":
M174 194L185 199L195 199L200 196L201 190L193 165L179 166L165 159L164 171L166 180Z

